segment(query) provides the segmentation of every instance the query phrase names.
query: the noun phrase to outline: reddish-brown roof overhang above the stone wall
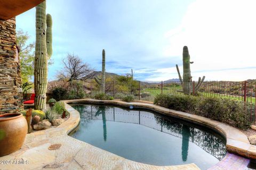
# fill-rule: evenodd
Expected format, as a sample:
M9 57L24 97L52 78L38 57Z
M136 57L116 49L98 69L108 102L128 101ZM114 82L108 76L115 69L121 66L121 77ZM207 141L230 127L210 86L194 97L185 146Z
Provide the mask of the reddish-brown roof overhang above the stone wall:
M0 19L7 20L30 10L45 0L0 0Z

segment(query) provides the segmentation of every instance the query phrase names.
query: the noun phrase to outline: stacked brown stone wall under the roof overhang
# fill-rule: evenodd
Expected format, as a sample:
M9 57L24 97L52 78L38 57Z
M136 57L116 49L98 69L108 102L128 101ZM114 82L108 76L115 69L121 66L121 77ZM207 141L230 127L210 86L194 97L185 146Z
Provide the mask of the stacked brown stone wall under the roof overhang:
M15 18L0 20L0 114L23 109Z

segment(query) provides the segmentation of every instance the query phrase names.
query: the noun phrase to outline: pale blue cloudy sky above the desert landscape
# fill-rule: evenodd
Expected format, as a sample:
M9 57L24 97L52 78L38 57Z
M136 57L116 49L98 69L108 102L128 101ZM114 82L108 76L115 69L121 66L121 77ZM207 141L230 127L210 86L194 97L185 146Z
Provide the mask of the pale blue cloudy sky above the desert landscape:
M188 46L193 80L256 79L256 1L254 0L47 0L53 20L56 79L68 53L119 75L133 69L137 80L159 81L182 74L182 48ZM18 15L17 30L35 42L35 8Z

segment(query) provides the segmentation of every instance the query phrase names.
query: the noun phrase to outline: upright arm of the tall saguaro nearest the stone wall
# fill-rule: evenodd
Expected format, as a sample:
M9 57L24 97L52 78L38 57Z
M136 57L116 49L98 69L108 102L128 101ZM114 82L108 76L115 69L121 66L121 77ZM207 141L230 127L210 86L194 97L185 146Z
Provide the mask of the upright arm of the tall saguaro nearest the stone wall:
M50 14L46 15L46 26L47 55L50 59L52 56L52 16Z

